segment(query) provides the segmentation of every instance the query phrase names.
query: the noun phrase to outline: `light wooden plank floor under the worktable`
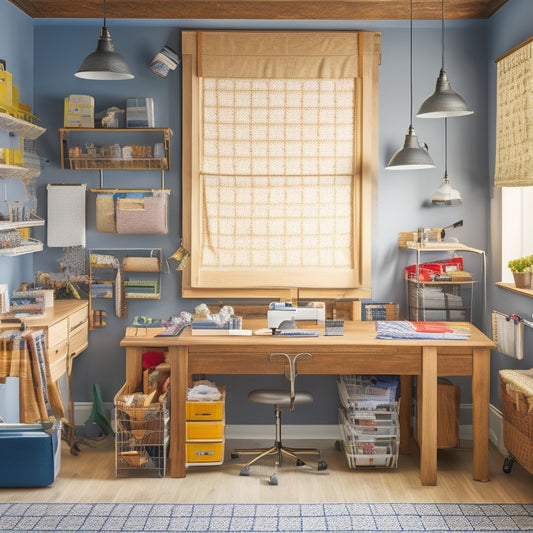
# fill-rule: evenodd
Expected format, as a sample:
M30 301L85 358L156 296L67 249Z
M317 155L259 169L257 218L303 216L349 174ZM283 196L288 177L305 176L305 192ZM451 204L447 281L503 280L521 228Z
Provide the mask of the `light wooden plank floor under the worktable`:
M495 449L490 451L489 482L472 480L472 451L465 446L440 450L438 485L423 487L417 453L401 455L394 470L350 470L344 452L338 451L334 442L318 441L313 445L321 447L327 470L316 472L284 464L279 471L279 485L270 486L267 483L272 472L270 463L253 467L250 477L242 477L239 476L241 460L229 459L230 446L258 444L266 443L227 442L227 460L223 465L190 467L183 479L168 476L117 479L112 438L82 444L77 456L63 443L61 471L53 485L0 489L0 502L533 502L533 476L517 463L510 474L505 474L503 458Z

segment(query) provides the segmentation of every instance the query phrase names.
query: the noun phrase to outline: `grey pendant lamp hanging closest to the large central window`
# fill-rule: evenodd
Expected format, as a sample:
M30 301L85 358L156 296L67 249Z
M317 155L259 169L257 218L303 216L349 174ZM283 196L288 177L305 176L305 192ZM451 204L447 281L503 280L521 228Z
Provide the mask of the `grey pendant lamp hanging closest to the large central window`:
M431 159L427 145L420 146L415 129L413 128L413 0L411 0L411 25L410 25L410 112L409 112L409 129L405 135L403 147L400 148L385 167L389 170L423 170L435 168L435 163Z

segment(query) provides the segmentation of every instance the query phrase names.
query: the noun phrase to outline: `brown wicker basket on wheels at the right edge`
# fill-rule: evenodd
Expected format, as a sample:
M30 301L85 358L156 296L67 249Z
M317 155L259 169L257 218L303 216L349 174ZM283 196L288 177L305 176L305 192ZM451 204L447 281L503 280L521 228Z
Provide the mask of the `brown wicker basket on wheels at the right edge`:
M513 371L519 372L519 371ZM533 474L533 396L518 390L509 371L500 371L503 442L507 451Z

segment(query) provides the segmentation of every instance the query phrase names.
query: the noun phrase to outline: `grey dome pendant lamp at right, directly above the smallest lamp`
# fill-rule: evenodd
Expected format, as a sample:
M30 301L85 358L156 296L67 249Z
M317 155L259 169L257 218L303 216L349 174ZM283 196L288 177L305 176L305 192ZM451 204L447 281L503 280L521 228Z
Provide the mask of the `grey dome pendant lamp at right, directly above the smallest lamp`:
M435 92L422 102L416 116L421 118L445 118L471 115L473 111L468 107L464 98L452 90L448 75L444 71L444 0L442 0L441 39L442 63Z

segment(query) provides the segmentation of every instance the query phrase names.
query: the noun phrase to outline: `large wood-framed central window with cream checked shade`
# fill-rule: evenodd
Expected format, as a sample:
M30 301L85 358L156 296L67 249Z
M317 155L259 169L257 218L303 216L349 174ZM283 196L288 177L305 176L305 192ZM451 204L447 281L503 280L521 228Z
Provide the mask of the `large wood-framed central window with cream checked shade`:
M183 32L183 296L369 296L379 47Z

